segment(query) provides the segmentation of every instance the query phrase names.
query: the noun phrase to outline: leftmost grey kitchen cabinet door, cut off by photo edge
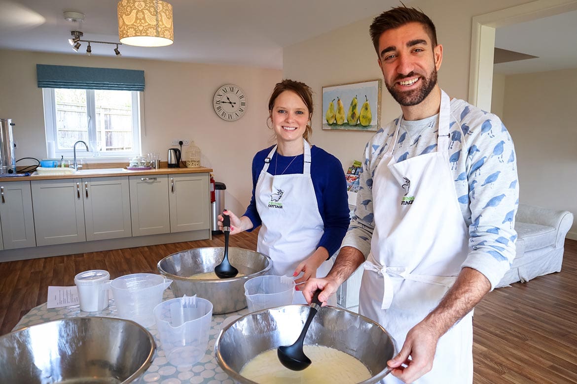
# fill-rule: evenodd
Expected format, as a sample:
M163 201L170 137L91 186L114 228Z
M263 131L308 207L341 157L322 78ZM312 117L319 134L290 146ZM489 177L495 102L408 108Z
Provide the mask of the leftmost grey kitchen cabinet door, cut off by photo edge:
M0 184L2 249L36 246L29 181Z

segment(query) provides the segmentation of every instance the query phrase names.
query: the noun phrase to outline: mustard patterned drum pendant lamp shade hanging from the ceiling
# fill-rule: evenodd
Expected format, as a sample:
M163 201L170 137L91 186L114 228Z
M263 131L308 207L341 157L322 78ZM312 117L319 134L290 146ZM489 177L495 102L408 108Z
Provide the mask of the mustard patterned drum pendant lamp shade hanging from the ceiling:
M138 47L172 44L173 6L161 0L119 1L118 38L122 44Z

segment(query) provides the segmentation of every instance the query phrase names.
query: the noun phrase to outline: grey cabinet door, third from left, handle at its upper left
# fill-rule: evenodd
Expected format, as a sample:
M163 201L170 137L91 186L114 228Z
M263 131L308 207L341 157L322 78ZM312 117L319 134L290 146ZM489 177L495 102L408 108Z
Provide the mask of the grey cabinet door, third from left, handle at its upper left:
M86 239L132 236L128 176L82 179Z

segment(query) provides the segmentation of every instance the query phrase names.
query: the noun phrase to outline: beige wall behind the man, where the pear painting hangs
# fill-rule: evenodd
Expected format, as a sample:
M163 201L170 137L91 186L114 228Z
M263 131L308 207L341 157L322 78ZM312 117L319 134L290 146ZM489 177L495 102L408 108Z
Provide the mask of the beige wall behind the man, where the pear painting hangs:
M469 93L469 62L471 22L473 16L526 3L524 0L436 0L406 3L422 9L432 18L437 38L443 44L443 64L439 83L449 96L467 100ZM388 6L383 5L383 10ZM377 16L377 15L375 15ZM314 39L285 48L283 77L299 79L314 90L314 104L319 109L313 116L313 143L334 154L347 168L359 159L369 132L322 131L322 87L348 82L382 79L377 55L369 37L367 18ZM383 86L381 124L400 115L398 104ZM346 106L348 108L348 105Z

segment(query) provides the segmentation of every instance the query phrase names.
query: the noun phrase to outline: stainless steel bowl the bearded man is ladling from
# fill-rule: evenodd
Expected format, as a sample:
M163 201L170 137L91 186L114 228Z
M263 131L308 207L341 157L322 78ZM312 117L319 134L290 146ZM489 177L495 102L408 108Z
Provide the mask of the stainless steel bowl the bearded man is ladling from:
M309 307L286 305L249 313L225 326L215 343L216 360L239 383L253 383L238 372L259 353L291 345L301 334ZM395 344L385 329L358 313L323 307L313 318L305 345L324 345L349 353L365 364L376 383L388 373L387 360L396 355ZM314 362L313 362L314 364Z

